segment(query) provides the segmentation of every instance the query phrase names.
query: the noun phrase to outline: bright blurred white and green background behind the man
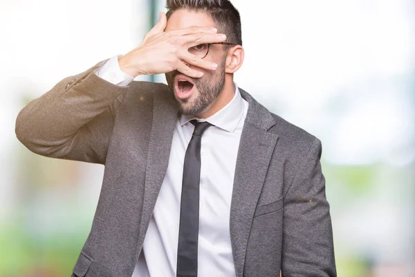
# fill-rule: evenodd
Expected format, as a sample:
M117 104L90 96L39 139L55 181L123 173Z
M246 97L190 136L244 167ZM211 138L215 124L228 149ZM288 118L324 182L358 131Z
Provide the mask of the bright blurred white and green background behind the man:
M415 276L414 1L232 3L246 53L235 81L322 140L338 276ZM136 48L165 1L0 5L0 276L70 276L104 166L33 154L15 119L59 80Z

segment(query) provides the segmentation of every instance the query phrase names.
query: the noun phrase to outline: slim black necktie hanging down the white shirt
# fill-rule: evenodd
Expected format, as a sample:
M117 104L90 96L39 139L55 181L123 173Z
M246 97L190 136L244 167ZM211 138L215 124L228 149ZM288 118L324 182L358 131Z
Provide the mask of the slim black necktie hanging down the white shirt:
M201 180L201 139L212 126L208 122L190 121L194 125L192 139L185 154L178 228L178 277L197 276L197 244L199 238L199 183Z

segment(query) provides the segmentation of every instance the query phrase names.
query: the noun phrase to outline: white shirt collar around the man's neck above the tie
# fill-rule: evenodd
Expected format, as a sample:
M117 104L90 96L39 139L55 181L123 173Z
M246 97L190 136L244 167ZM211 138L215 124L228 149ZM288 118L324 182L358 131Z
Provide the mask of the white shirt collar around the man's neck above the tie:
M241 117L243 116L244 109L243 99L236 82L234 82L234 87L234 97L225 107L217 111L216 114L213 114L208 118L198 118L197 116L181 114L181 126L185 125L192 119L198 119L200 121L208 121L208 123L224 129L225 131L234 132L234 130L237 129L239 120L241 120Z

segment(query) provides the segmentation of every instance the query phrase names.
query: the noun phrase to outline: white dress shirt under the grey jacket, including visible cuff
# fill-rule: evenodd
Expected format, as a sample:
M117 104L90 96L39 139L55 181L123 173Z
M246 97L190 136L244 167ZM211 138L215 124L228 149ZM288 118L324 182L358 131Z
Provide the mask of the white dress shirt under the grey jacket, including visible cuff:
M118 56L105 63L97 75L127 86L133 78L123 73ZM127 75L127 78L126 78ZM176 276L183 163L196 118L208 121L201 141L198 276L235 276L230 243L230 203L234 171L248 102L234 83L232 100L208 118L179 116L172 141L169 166L132 277Z

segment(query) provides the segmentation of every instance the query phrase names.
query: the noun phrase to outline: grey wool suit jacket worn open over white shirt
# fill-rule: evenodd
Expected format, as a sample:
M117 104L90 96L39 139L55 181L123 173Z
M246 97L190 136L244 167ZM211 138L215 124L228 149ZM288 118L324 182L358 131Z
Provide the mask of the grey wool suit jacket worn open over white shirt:
M26 105L15 131L37 154L105 166L91 232L73 273L131 277L167 170L178 111L165 84L120 87L98 78L94 73L104 62ZM280 270L283 276L335 276L320 141L240 91L249 109L230 208L237 276L279 276Z

